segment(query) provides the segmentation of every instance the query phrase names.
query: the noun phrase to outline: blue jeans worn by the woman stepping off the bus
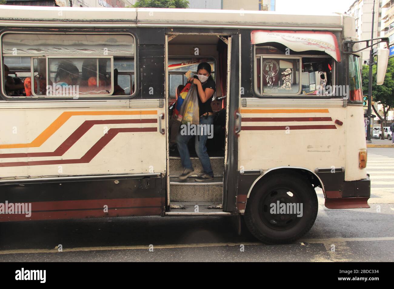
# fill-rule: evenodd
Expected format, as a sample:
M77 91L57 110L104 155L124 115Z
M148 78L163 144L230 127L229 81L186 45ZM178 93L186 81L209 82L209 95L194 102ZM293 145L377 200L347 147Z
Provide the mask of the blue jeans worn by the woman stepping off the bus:
M200 124L205 125L212 125L214 123L214 116L200 116ZM212 129L210 133L213 133ZM185 169L193 169L193 165L190 161L190 153L188 149L188 142L193 137L191 134L184 134L182 135L182 126L181 131L178 133L177 136L177 144L178 144L178 151L180 155L180 159L182 161L182 166ZM204 129L204 133L200 136L195 136L195 149L197 156L200 159L201 165L203 166L204 173L210 175L211 177L214 176L212 171L211 162L209 160L208 153L206 152L206 140L208 139L207 131Z

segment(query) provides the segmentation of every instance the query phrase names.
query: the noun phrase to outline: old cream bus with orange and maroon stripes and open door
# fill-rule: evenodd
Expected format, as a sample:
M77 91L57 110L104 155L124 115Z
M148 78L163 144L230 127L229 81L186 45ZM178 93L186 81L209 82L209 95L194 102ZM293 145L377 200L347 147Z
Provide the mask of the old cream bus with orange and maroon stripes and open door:
M349 15L1 6L0 29L2 222L231 216L289 243L314 224L318 193L329 209L369 208ZM387 57L379 48L379 82ZM191 140L180 181L169 106L202 62L214 179L195 181Z

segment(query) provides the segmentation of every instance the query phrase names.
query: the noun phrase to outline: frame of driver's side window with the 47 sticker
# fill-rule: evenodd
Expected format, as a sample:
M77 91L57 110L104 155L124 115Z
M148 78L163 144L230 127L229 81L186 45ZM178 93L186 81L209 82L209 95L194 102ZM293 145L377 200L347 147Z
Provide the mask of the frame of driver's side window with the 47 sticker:
M337 99L337 98L342 98L340 96L335 96L335 91L331 90L331 94L327 94L327 95L322 95L322 96L318 96L318 95L310 95L307 96L306 94L302 94L302 81L301 81L301 77L302 77L302 58L303 57L309 57L309 58L321 58L321 57L327 57L327 58L331 58L332 59L332 69L331 69L331 87L335 87L336 85L336 61L335 59L333 59L333 57L331 57L330 55L308 55L308 54L299 54L299 55L280 55L280 54L256 54L256 44L253 44L254 48L253 48L253 97L255 98L260 98L260 99ZM258 92L258 88L257 88L257 63L256 63L256 57L258 56L265 56L267 58L275 58L273 56L276 56L278 58L286 58L286 57L299 57L300 59L300 72L299 72L299 82L300 82L300 91L298 94L269 94L269 93L265 93L265 94L260 94ZM261 67L261 60L260 60L260 67ZM260 79L260 87L261 87L261 80ZM241 98L247 98L247 95L241 95Z

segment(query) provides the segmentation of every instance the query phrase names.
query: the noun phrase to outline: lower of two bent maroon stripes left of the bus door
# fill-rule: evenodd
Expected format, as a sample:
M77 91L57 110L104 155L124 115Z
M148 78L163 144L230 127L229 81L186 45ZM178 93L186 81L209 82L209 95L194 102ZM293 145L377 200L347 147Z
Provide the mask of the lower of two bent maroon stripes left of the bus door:
M109 129L102 138L100 138L91 147L82 158L71 160L35 160L30 162L2 162L0 167L20 167L20 166L43 166L43 165L57 165L57 164L84 164L89 163L101 150L106 146L118 133L138 133L138 132L154 132L157 127L128 127L119 129Z

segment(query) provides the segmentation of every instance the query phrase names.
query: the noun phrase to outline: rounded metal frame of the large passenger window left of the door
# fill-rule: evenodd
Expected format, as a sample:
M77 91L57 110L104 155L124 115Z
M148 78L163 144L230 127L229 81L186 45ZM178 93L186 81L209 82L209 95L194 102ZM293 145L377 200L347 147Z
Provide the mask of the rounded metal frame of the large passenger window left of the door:
M64 35L64 34L72 34L72 35L78 35L78 34L82 34L82 35L86 35L86 34L94 34L94 35L130 35L132 37L133 40L133 45L134 45L134 54L119 54L119 55L92 55L92 54L77 54L77 55L69 55L69 54L64 54L64 55L43 55L43 54L23 54L20 53L18 55L11 55L11 54L4 54L3 53L3 36L5 34L16 34L16 33L22 33L22 34L27 34L27 33L31 33L31 34L58 34L58 35ZM3 33L1 33L0 35L0 67L2 69L0 69L0 77L2 78L2 82L1 82L1 94L2 94L2 98L4 100L7 101L26 101L26 100L48 100L48 101L53 101L53 100L60 100L60 101L66 101L66 100L116 100L116 99L132 99L134 97L137 96L138 94L138 89L136 89L137 83L138 83L138 75L136 74L136 71L138 70L138 45L137 45L137 40L136 40L136 35L134 35L133 33L130 32L112 32L112 31L108 31L106 33L104 32L43 32L43 31L4 31ZM30 57L31 58L31 64L32 59L33 58L46 58L46 72L47 72L47 79L46 79L46 83L48 85L49 83L49 77L48 77L48 57L50 58L112 58L111 60L111 67L112 67L112 74L111 74L111 87L112 87L112 93L113 93L113 88L114 88L114 79L113 79L113 62L114 62L114 57L130 57L130 59L132 59L132 61L134 62L134 92L132 87L130 87L130 95L126 95L126 96L112 96L112 95L100 95L100 94L91 94L89 96L78 96L78 99L75 99L75 97L73 96L35 96L35 92L33 93L33 81L32 81L32 94L33 96L8 96L5 92L5 87L4 87L4 61L3 58L4 57ZM33 74L34 74L34 67L30 66L30 72L32 75L32 79L33 78ZM132 72L131 72L132 73Z

